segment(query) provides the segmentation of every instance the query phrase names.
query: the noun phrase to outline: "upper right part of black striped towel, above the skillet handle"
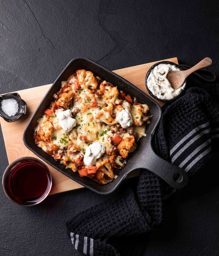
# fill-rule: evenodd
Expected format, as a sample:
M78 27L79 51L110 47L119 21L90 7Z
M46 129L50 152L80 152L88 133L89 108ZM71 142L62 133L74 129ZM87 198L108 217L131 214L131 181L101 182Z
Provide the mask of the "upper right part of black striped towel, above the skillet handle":
M218 141L219 84L201 87L189 88L165 106L153 137L155 152L189 174L212 157L212 147Z

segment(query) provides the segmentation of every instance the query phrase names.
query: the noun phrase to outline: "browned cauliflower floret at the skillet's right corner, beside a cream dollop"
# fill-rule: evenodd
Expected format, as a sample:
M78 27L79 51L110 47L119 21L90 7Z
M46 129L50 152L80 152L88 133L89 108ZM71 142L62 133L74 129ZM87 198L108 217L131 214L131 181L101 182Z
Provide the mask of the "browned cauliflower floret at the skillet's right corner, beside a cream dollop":
M131 116L135 125L141 126L145 121L149 120L150 117L147 115L148 110L149 108L146 104L131 106Z

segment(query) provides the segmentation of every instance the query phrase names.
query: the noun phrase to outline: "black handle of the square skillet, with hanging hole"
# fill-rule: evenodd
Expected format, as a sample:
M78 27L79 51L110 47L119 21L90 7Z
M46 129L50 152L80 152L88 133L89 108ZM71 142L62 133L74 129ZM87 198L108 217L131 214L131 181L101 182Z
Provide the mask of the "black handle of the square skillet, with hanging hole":
M145 169L155 173L175 189L183 188L188 182L186 171L159 157L152 148L148 152Z

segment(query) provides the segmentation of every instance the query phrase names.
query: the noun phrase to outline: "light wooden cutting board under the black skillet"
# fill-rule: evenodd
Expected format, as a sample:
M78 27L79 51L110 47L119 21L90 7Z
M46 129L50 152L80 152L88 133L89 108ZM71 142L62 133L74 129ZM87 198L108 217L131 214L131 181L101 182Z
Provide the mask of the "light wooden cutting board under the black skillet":
M167 61L172 61L174 63L178 64L177 58L171 58L166 59ZM139 89L141 89L143 92L149 95L149 93L146 90L145 87L145 75L148 69L158 61L146 63L138 66L133 67L127 67L122 69L114 70L116 74L122 76L135 86L137 86ZM19 157L24 156L33 156L38 158L36 155L34 155L33 152L31 152L29 149L27 149L23 143L23 132L24 129L27 126L27 123L29 122L31 116L33 115L35 109L39 105L40 101L48 91L48 89L51 87L52 84L47 84L43 86L38 86L30 89L20 90L17 91L17 93L20 94L21 98L26 101L27 103L27 113L25 116L21 117L16 122L8 123L3 118L0 117L0 123L2 127L2 133L4 137L5 142L5 148L8 156L8 162L11 163L15 159ZM150 96L150 95L149 95ZM157 101L158 102L158 101ZM163 105L163 102L158 102L161 106ZM50 192L50 195L61 193L69 190L79 189L83 186L78 184L77 182L73 181L72 179L68 178L61 172L57 171L47 163L45 163L52 174L53 178L53 186ZM136 171L133 171L130 173L129 177L136 176Z

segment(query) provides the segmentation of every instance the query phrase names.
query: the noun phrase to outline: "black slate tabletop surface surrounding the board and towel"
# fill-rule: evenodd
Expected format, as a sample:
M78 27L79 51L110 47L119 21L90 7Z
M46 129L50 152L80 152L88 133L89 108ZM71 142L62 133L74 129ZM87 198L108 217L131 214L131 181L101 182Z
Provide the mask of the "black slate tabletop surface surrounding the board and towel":
M209 56L219 74L219 3L213 1L0 1L0 93L52 83L85 56L113 70L177 56ZM16 132L16 131L15 131ZM0 135L0 178L8 165ZM144 255L218 255L218 164L207 166L167 202L163 225ZM125 181L115 192L136 179ZM35 207L11 203L0 186L0 255L80 255L65 222L101 196L87 189L48 197Z

